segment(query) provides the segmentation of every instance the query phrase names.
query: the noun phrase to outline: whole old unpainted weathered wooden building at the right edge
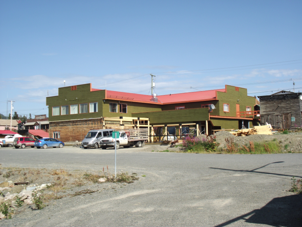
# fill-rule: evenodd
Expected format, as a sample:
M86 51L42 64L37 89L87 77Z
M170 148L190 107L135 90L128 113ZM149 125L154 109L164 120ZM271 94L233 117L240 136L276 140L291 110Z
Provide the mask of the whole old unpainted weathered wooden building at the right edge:
M271 95L258 96L260 100L261 125L271 124L276 129L301 127L301 93L279 91Z

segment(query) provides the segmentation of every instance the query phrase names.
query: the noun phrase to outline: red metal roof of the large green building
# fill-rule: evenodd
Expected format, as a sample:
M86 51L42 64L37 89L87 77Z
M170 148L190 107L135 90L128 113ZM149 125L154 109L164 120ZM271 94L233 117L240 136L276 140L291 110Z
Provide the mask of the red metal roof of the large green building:
M167 104L167 103L181 103L181 102L194 102L203 100L216 99L216 91L225 92L225 89L208 90L208 91L196 91L169 95L157 96L158 102L151 101L151 95L142 95L135 93L127 93L120 91L109 91L107 90L106 99L116 99L134 102L147 102L154 104Z

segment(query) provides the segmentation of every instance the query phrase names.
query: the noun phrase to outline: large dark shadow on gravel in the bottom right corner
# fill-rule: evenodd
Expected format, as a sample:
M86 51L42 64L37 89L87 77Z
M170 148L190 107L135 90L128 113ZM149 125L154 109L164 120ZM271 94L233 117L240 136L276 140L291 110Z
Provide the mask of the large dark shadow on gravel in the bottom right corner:
M251 216L252 215L252 216ZM250 216L250 217L249 217ZM216 225L222 227L239 220L248 223L271 226L301 227L302 226L302 195L278 197L271 200L261 209L253 210L227 222Z

